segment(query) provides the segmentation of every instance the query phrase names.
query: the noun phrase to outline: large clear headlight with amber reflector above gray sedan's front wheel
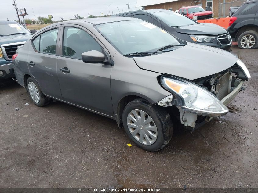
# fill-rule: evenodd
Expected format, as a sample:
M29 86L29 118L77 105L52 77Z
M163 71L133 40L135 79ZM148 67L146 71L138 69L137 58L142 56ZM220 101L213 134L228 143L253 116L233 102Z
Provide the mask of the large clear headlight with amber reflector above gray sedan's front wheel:
M164 88L176 95L176 106L187 112L217 117L228 112L225 105L209 91L181 78L161 77Z

